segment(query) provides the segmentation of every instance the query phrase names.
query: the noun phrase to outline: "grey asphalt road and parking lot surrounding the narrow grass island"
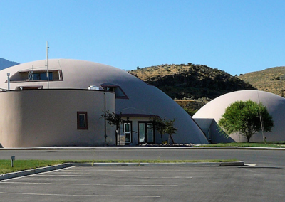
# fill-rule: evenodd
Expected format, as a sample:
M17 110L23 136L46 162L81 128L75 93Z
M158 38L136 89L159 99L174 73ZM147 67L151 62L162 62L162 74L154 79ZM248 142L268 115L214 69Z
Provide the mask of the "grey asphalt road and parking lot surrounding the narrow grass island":
M5 150L0 159L239 159L237 166L90 166L0 181L1 201L284 201L285 151Z

